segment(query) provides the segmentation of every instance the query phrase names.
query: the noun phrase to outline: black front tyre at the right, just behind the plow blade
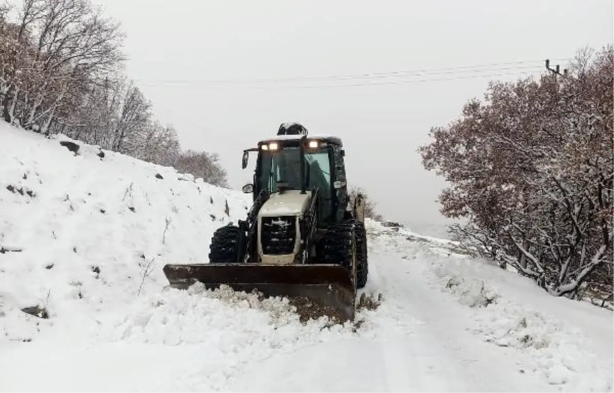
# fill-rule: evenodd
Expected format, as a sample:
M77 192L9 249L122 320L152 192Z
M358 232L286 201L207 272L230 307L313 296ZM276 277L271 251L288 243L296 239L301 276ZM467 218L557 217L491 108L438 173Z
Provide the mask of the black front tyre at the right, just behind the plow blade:
M352 262L357 259L354 221L348 220L328 227L323 240L324 263L340 264L356 274L352 268Z

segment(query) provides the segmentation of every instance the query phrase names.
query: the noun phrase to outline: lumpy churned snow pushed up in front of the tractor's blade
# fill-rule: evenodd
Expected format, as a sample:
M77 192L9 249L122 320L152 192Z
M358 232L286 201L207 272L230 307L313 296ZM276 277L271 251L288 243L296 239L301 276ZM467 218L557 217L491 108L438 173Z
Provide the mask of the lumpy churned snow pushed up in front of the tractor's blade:
M411 324L386 305L359 311L356 321L330 324L327 317L299 321L284 298L261 299L228 287L165 289L139 298L125 315L101 319L93 342L200 348L198 359L173 382L173 391L227 391L246 365L301 348L352 338L375 338L381 330L403 334ZM179 389L177 386L181 386Z

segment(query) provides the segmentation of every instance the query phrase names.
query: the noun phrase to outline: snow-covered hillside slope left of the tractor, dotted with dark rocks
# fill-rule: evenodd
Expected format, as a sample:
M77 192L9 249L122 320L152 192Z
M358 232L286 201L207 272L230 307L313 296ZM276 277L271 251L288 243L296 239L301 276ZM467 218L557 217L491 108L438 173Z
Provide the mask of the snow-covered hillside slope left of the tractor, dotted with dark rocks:
M67 140L1 125L0 341L157 292L165 263L207 260L215 228L249 206L173 168L87 145L74 154Z

